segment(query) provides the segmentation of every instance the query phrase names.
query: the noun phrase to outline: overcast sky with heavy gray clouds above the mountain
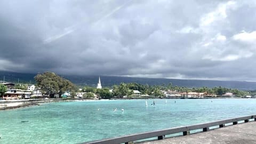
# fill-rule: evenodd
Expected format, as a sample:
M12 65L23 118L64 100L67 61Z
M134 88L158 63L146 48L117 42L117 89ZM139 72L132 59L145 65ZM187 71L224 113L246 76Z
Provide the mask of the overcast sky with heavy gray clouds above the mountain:
M0 70L256 81L255 44L255 0L0 1Z

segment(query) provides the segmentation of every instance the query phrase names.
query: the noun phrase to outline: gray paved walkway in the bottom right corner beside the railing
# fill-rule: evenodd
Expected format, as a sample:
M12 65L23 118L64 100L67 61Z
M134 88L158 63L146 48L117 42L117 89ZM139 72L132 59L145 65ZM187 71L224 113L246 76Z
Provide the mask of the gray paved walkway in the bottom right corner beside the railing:
M162 143L256 143L256 122L242 123L220 129L200 132L181 137L166 138L143 142L144 144Z

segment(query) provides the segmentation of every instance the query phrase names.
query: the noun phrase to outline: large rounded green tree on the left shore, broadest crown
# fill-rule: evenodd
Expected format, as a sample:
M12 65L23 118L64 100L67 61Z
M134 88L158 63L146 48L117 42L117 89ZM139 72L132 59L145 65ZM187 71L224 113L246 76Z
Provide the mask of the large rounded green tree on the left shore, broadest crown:
M61 95L65 91L74 92L76 90L76 86L73 83L51 72L37 74L34 78L37 86L41 87L41 90L45 94L51 95L58 93Z

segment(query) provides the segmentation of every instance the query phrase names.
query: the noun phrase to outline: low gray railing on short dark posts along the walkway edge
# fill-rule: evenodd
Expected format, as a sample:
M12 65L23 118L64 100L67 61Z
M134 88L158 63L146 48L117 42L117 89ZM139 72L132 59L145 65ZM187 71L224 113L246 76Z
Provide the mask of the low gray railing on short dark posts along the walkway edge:
M180 127L174 127L172 129L131 134L131 135L123 136L123 137L96 140L96 141L83 142L83 143L84 144L92 144L92 143L94 143L94 144L105 144L105 143L106 144L109 144L109 143L111 143L111 144L119 144L119 143L127 144L132 141L143 140L143 139L154 138L154 137L157 137L158 140L161 140L161 139L165 138L165 135L169 135L169 134L175 134L175 133L182 132L183 135L187 135L190 133L190 131L199 130L199 129L202 129L205 132L205 131L209 131L209 128L212 126L225 127L225 124L232 123L233 125L235 125L235 124L238 124L239 121L244 121L244 123L247 123L250 121L250 119L254 119L254 121L256 121L256 115L224 119L221 121L215 121L215 122L211 122L211 123L196 124L196 125L190 125L190 126L180 126Z

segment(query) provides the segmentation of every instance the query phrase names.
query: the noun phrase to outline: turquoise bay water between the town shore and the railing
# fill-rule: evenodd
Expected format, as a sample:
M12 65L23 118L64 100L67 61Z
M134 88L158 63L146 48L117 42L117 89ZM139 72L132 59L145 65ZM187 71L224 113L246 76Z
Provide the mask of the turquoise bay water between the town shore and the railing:
M0 111L0 143L77 143L256 114L256 99L155 99L155 107L145 101L55 102Z

